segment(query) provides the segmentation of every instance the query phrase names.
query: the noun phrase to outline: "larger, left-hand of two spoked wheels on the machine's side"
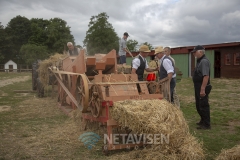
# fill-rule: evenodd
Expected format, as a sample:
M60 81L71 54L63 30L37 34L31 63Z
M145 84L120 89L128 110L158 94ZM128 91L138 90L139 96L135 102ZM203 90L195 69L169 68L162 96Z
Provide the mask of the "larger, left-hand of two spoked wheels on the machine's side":
M89 89L88 81L85 75L80 75L77 78L76 83L76 100L80 110L84 113L87 112L88 102L89 102Z

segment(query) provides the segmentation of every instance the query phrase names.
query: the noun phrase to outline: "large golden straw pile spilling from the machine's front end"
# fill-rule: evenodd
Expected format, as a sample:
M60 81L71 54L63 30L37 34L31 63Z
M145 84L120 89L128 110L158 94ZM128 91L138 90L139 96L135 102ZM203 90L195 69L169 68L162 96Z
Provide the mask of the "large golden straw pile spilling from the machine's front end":
M166 100L115 102L111 116L136 134L169 135L169 143L111 157L113 159L204 159L202 143L189 133L182 112Z

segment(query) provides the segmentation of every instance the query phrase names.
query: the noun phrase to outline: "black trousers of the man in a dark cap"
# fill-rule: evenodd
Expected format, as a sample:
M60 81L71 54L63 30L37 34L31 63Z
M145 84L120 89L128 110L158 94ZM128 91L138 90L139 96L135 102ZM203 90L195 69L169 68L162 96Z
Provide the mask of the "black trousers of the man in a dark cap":
M196 109L198 114L201 117L200 123L206 127L209 127L210 126L210 106L208 103L208 95L211 92L212 86L207 85L205 88L206 95L204 97L200 97L201 85L202 84L194 84Z

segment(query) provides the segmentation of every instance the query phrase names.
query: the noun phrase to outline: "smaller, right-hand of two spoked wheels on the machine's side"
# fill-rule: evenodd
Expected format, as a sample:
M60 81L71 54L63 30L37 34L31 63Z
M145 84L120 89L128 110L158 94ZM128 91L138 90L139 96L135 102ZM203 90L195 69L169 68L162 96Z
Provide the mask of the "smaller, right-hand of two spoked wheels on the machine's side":
M102 111L102 90L99 85L92 85L90 89L89 107L94 117L99 117Z

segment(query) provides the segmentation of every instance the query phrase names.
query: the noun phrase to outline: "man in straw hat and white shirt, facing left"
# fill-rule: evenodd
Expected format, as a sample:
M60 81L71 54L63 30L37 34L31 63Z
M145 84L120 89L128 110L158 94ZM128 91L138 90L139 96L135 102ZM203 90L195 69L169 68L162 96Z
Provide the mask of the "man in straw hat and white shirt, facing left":
M155 49L155 55L160 60L160 64L161 64L159 68L159 72L160 72L159 79L161 80L166 77L170 79L171 102L174 103L173 91L176 86L176 80L175 80L176 73L174 69L174 63L171 60L171 58L165 55L165 52L162 46L159 46L157 47L157 49Z

